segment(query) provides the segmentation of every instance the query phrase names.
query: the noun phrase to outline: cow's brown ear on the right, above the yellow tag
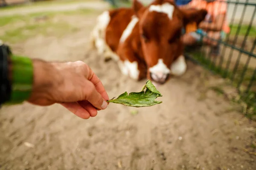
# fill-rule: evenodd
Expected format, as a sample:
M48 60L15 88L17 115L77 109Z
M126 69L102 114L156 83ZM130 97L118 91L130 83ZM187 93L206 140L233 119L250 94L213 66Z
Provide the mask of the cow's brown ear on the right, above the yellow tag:
M201 23L205 16L207 15L207 11L204 9L195 9L195 8L186 8L180 9L183 13L183 23L186 26L188 23L196 23L197 25Z

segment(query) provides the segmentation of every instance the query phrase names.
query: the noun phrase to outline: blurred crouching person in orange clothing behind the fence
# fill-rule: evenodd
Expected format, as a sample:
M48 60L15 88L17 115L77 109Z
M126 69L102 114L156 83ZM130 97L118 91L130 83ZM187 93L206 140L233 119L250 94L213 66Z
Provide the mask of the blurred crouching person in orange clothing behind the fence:
M181 6L181 8L197 8L206 9L208 11L205 20L201 22L196 31L185 33L183 42L185 45L194 45L197 42L204 42L211 45L211 55L219 55L219 43L211 40L223 40L230 32L230 27L227 24L227 3L218 0L191 0L190 3ZM207 35L207 37L202 37Z

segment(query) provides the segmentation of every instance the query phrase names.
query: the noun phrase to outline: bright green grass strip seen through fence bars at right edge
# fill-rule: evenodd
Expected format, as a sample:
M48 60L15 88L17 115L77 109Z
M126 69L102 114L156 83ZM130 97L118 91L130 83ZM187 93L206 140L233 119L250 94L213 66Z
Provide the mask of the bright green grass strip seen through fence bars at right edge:
M248 25L242 25L239 30L239 35L245 35L248 28L249 28ZM239 29L239 25L230 25L230 29L231 29L230 35L236 35L236 32ZM255 26L251 26L248 36L254 36L254 37L256 36L256 27Z

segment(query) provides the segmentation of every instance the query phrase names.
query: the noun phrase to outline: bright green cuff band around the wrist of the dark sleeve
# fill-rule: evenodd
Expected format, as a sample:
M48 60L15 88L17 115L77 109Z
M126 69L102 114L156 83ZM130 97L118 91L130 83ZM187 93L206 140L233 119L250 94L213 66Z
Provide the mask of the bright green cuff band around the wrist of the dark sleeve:
M11 97L5 105L22 103L29 99L33 85L32 59L21 56L10 56L11 60Z

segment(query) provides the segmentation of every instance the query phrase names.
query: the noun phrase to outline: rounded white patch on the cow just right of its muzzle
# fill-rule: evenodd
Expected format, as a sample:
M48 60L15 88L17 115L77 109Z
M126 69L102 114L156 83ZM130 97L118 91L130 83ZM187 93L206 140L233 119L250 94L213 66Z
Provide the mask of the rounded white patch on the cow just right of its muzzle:
M181 76L186 72L186 61L185 57L181 55L179 58L177 58L171 65L171 74L175 76Z

